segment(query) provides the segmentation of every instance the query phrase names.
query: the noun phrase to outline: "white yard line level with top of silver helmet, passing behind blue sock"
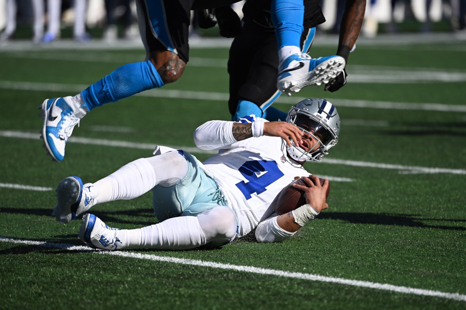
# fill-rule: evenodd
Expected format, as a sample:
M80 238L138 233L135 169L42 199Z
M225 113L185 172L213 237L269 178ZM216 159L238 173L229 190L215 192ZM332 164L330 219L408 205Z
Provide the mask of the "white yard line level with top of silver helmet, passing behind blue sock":
M28 91L50 91L50 92L81 92L89 85L79 84L59 84L59 83L41 83L41 82L14 82L0 80L0 88ZM182 90L153 89L140 92L135 96L153 97L153 98L173 98L173 99L198 99L198 100L215 100L227 101L229 95L223 92L197 92ZM286 97L280 96L275 103L291 104L306 99L306 97ZM445 105L440 103L412 103L412 102L391 102L391 101L373 101L373 100L352 100L352 99L332 99L327 98L336 106L345 106L352 108L372 108L372 109L393 109L393 110L423 110L423 111L441 111L441 112L466 112L464 105Z

